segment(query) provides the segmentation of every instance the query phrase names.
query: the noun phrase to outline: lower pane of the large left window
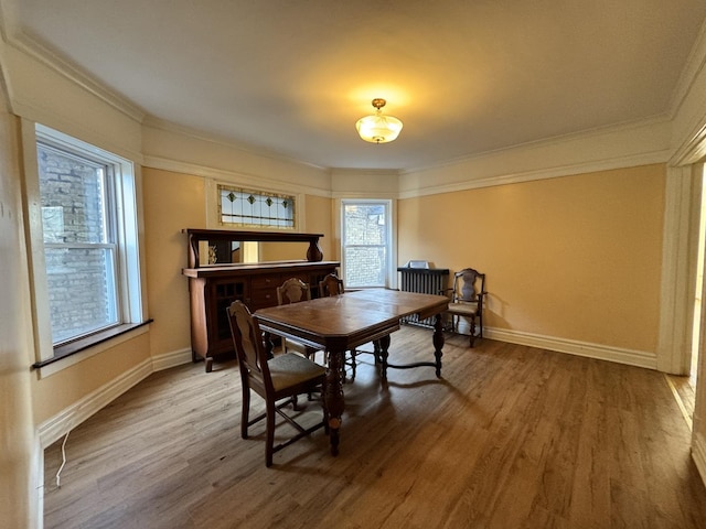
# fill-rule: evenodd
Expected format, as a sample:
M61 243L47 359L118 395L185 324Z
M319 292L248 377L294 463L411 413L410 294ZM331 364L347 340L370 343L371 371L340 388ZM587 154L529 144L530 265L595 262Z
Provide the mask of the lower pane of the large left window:
M45 248L52 339L61 343L117 320L110 248Z

